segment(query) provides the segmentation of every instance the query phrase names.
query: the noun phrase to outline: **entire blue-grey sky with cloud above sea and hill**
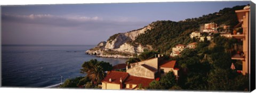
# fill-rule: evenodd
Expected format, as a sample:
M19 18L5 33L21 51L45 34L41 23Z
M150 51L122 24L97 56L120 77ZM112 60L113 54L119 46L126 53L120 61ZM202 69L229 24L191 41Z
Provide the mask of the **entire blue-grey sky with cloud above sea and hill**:
M234 2L2 5L2 44L97 45L111 35L157 20L181 21L219 12Z

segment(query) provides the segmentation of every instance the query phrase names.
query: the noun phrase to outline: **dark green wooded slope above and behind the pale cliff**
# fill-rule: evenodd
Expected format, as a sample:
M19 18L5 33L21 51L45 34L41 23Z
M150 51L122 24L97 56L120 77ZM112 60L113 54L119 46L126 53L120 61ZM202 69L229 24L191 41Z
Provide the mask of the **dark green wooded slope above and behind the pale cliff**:
M145 34L139 35L134 43L141 45L151 45L154 50L165 53L170 52L171 48L177 44L188 44L193 40L189 34L193 31L199 31L200 26L205 23L214 22L218 26L230 26L232 29L237 23L235 10L243 9L243 6L234 6L225 8L219 12L203 15L199 18L186 19L179 22L174 21L156 21L154 28L147 30Z

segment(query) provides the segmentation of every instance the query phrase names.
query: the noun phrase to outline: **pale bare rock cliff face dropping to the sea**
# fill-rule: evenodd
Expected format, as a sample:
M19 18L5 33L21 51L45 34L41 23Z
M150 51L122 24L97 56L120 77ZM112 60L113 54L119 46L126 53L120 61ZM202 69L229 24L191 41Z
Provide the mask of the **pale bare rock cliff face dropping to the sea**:
M149 45L141 45L133 41L139 35L151 30L152 26L133 30L125 33L118 33L111 36L107 42L101 41L97 46L86 51L86 54L97 55L98 57L129 58L139 55L144 49L151 50Z

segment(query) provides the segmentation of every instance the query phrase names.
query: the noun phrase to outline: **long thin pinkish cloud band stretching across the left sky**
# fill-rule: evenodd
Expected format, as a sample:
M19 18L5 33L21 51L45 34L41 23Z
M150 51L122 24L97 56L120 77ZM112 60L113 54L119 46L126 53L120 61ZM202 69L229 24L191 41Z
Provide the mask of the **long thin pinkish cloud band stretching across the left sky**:
M2 21L21 23L21 24L38 24L51 27L63 28L80 28L86 31L130 31L146 26L149 22L131 20L133 18L115 18L103 20L99 16L82 16L82 15L51 15L51 14L30 14L30 15L10 15L2 14Z

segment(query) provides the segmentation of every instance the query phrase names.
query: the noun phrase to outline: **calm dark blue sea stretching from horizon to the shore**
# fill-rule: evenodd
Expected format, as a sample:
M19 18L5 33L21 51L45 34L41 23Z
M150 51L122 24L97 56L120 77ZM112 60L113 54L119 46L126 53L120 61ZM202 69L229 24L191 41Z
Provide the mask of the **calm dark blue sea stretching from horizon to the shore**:
M47 87L79 73L85 61L97 59L112 65L125 59L86 55L93 46L2 46L3 87Z

